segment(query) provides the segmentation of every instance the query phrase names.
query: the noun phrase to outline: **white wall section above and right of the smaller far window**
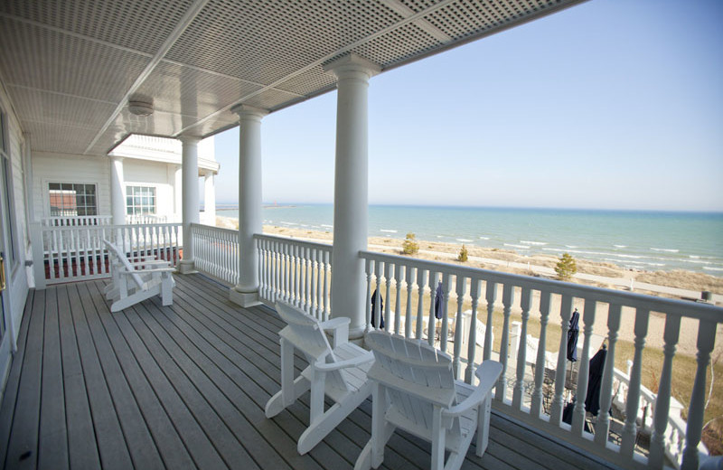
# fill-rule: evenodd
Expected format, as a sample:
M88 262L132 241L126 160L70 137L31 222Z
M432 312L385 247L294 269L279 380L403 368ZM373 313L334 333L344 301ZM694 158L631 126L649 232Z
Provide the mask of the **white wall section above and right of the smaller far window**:
M175 164L162 164L146 160L123 160L123 174L126 186L151 186L155 188L155 214L163 215L167 221L174 221ZM178 215L180 220L180 214Z

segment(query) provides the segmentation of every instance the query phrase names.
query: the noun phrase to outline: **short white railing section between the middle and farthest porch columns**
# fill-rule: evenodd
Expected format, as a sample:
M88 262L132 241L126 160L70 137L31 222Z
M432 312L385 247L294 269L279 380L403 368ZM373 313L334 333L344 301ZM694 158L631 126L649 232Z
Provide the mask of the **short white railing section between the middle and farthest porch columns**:
M231 287L239 283L239 231L191 224L194 268Z

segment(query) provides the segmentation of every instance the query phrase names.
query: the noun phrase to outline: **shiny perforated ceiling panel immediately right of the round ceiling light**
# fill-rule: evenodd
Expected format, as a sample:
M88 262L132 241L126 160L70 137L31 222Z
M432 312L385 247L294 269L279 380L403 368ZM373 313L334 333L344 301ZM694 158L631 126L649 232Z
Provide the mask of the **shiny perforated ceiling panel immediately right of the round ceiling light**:
M162 61L138 89L153 97L155 109L205 118L259 85Z

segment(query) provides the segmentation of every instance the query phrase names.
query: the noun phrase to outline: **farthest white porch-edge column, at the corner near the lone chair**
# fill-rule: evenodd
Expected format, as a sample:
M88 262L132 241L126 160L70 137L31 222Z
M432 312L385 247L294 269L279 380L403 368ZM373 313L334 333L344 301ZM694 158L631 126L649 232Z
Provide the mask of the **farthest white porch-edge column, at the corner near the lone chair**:
M198 223L198 143L201 139L194 136L180 136L178 140L183 143L181 156L183 164L183 260L179 265L179 271L181 274L186 274L193 271L191 224Z

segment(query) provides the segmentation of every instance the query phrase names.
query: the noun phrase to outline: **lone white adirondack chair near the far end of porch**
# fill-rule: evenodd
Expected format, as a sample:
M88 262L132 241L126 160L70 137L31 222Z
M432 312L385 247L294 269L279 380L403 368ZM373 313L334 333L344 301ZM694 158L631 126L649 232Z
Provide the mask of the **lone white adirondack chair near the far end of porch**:
M136 305L152 296L160 296L163 305L174 303L175 271L157 261L131 263L126 254L108 240L103 240L111 259L111 282L105 289L106 298L112 300L111 312ZM109 287L109 288L108 288Z

